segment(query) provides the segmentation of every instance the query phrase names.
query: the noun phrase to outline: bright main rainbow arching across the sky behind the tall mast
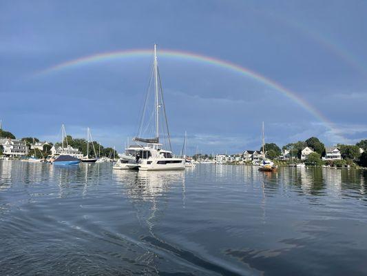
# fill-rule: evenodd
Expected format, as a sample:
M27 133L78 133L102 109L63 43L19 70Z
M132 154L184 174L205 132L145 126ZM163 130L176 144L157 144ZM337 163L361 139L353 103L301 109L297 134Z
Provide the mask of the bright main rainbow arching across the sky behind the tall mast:
M81 57L78 59L73 59L70 61L59 63L50 68L46 68L45 70L36 72L33 75L33 77L42 77L44 75L49 75L55 72L60 72L60 71L68 70L71 68L78 68L81 66L87 66L87 65L94 64L94 63L114 61L116 59L152 57L152 55L153 55L153 51L146 50L146 49L133 49L133 50L120 50L116 52L104 52L104 53L100 53L96 55L90 55L87 57ZM233 72L237 72L246 77L250 77L251 79L254 79L255 81L259 81L260 83L263 83L264 85L269 86L270 88L273 88L277 92L280 92L282 95L286 96L287 98L291 99L295 103L299 104L300 106L302 106L302 108L304 108L309 113L311 113L311 115L313 115L319 121L322 121L322 123L325 126L327 126L330 130L335 129L331 121L329 121L326 117L324 117L324 115L322 115L321 112L319 112L313 106L311 106L310 103L302 99L300 95L297 95L297 93L292 92L291 90L285 88L280 83L277 83L271 79L268 79L260 75L258 72L250 70L249 68L245 68L243 66L232 63L230 61L225 61L225 60L217 59L214 57L208 57L205 55L199 55L193 52L184 52L184 51L178 51L178 50L164 49L164 50L159 50L158 55L159 57L186 59L186 60L193 61L193 62L206 63L211 66L217 66L219 68L231 70Z

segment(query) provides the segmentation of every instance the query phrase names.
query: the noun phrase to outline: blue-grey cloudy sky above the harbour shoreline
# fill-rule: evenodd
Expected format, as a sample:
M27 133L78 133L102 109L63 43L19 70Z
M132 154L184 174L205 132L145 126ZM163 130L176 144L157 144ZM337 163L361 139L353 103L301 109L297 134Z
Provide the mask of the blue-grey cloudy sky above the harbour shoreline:
M313 136L355 144L367 138L366 14L363 0L0 0L3 129L55 142L61 124L72 137L90 127L122 151L156 43L174 152L185 131L187 154L258 149L262 121L279 146ZM151 55L50 70L128 50Z

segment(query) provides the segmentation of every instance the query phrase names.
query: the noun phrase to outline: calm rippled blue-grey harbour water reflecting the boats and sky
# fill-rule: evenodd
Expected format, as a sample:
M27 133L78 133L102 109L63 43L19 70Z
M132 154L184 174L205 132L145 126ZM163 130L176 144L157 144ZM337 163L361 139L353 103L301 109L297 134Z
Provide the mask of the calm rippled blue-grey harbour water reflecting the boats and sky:
M0 161L0 275L366 275L367 172Z

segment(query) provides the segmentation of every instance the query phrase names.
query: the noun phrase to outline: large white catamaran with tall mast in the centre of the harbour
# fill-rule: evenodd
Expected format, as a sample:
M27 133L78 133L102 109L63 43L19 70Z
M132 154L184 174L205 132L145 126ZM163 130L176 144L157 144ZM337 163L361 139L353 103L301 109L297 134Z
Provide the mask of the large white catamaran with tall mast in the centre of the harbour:
M136 143L134 146L129 146L126 150L132 152L135 157L135 162L128 162L125 166L134 170L183 170L185 169L185 159L175 158L172 156L171 152L171 139L169 137L168 121L165 111L165 102L163 100L162 84L160 81L160 75L158 70L158 58L157 58L157 46L154 44L154 63L151 72L151 80L154 80L154 110L152 115L154 115L154 138L141 138L134 137L133 141ZM149 91L149 88L148 88ZM149 99L149 93L145 98L145 105L143 108L143 113L140 121L140 126L138 130L138 136L140 136L143 130L144 115L147 108L147 102ZM165 115L160 118L160 109L162 108L162 114ZM153 119L153 118L152 118ZM170 150L165 150L163 144L160 143L160 119L165 121L165 124L161 128L166 128L168 146ZM147 124L146 128L148 128Z

